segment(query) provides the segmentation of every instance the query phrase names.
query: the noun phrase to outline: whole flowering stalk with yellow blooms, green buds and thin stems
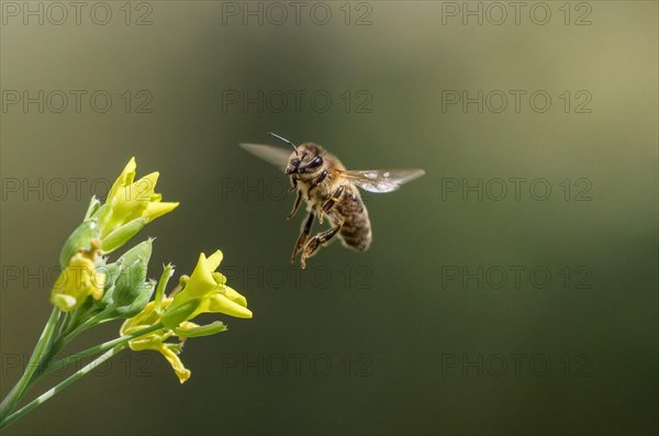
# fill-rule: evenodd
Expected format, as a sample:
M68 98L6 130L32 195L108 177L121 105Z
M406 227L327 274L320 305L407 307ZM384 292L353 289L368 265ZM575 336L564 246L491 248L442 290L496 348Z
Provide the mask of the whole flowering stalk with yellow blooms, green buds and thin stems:
M227 287L226 278L215 271L222 260L220 250L208 259L201 254L191 277L182 276L170 297L167 297L166 288L174 276L171 265L164 267L159 281L147 278L154 239L147 238L110 262L110 253L124 246L150 221L179 205L177 202L163 202L163 195L155 193L158 172L136 181L135 175L136 164L132 158L110 189L108 200L101 204L92 198L82 223L66 241L59 256L63 270L51 293L53 313L25 371L0 403L0 428L24 416L125 348L159 351L182 383L191 373L179 358L183 342L226 329L219 321L208 325L194 324L192 320L198 314L210 312L252 317L245 298ZM123 320L119 337L53 361L55 355L80 333L114 320ZM178 342L171 340L175 338ZM38 379L101 353L104 354L16 410Z

